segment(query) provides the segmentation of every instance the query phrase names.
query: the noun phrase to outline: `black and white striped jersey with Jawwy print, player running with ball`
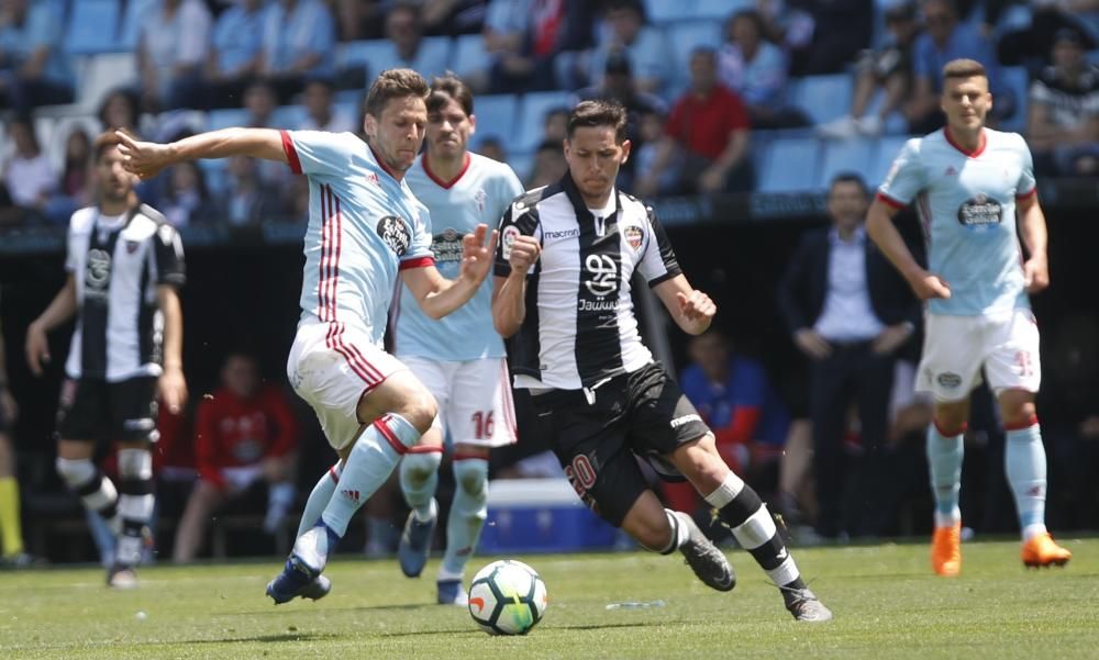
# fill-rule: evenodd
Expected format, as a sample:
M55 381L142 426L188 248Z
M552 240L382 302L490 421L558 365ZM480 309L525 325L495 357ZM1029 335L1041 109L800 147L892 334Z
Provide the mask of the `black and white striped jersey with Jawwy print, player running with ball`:
M614 213L595 217L566 174L517 198L501 219L496 275L511 272L515 236L542 244L528 273L526 314L508 346L515 387L590 388L653 360L637 333L630 280L636 270L654 287L680 269L653 209L614 195Z

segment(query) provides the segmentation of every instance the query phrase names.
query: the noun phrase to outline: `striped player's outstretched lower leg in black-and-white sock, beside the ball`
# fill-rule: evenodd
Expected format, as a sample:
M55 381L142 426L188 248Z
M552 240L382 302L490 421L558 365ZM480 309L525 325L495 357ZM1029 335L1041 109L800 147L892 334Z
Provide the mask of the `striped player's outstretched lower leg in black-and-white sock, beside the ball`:
M786 608L798 620L824 622L832 612L806 586L767 506L752 486L729 469L714 446L713 435L678 447L671 455L679 471L698 489L782 593Z

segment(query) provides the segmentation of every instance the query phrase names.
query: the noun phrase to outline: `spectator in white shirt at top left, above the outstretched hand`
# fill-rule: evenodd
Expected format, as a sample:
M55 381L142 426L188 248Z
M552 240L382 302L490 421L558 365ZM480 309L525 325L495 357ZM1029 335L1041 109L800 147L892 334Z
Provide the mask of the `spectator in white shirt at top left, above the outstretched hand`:
M202 0L159 0L145 12L137 70L146 111L202 107L202 64L210 48L211 22Z

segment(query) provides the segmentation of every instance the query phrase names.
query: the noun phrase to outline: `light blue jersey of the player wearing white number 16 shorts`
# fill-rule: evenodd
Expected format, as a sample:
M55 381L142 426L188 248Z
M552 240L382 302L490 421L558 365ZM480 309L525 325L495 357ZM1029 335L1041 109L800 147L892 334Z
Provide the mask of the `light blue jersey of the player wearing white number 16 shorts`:
M423 156L404 180L431 211L435 266L449 279L458 277L462 237L478 224L495 230L511 201L523 193L509 166L477 154L469 154L466 169L454 181L440 181ZM424 314L404 288L393 311L397 356L455 361L504 357L503 340L492 327L491 280L486 278L469 302L441 321Z

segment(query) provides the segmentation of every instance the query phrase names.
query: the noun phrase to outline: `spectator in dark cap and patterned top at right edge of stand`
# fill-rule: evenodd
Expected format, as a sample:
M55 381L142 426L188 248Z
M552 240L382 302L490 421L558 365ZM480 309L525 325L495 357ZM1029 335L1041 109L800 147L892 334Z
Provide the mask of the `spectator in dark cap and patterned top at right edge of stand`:
M1099 175L1099 65L1084 47L1079 31L1059 31L1053 65L1031 85L1026 138L1039 174Z

